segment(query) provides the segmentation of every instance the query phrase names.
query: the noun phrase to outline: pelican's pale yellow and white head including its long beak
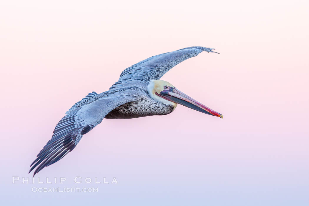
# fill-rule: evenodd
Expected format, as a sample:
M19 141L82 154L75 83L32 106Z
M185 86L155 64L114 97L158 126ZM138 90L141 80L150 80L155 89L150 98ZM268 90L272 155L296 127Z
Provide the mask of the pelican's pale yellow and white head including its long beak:
M177 90L175 86L169 82L163 80L150 80L147 89L152 99L166 105L171 105L174 109L178 103L196 111L223 118L222 114L206 107L180 90Z

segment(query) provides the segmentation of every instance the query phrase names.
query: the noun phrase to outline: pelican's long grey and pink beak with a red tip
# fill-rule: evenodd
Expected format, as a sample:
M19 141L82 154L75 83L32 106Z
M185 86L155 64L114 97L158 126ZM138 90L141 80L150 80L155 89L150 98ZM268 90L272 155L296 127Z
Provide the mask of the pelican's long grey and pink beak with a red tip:
M209 107L206 107L204 104L199 103L198 101L192 99L183 92L176 90L176 88L172 88L172 90L169 91L162 91L160 94L156 93L156 95L171 102L184 105L196 111L200 111L212 116L217 116L220 117L221 119L223 118L222 114L220 114L219 112L216 112L210 109Z

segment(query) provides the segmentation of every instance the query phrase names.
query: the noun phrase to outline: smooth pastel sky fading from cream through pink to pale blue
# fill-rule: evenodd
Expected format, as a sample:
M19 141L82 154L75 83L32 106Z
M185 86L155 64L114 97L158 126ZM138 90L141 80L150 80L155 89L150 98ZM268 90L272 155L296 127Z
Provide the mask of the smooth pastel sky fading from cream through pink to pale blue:
M308 1L2 1L1 201L55 205L309 205ZM162 79L223 114L103 120L73 152L12 184L64 113L121 71L189 46L216 48ZM160 129L166 123L173 127ZM116 177L118 184L76 184ZM38 193L32 187L99 187Z

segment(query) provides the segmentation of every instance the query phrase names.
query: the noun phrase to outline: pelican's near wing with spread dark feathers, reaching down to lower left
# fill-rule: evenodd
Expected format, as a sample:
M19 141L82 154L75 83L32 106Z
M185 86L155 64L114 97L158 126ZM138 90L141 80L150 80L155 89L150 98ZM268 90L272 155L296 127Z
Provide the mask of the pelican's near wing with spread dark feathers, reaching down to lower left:
M101 94L89 93L66 112L53 131L52 139L38 153L30 166L33 176L72 151L84 134L89 132L114 108L138 99L141 90L137 87L109 90Z

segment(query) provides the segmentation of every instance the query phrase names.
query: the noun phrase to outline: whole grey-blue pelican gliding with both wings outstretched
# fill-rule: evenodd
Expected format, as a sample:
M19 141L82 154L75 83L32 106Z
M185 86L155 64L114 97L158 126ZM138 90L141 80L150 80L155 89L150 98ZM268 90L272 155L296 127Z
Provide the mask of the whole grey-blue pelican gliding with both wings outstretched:
M160 78L180 62L214 48L188 47L149 57L125 69L119 80L100 94L89 93L75 103L53 131L52 138L32 162L33 176L72 151L84 134L106 119L131 119L167 115L177 104L222 118L222 114L197 102ZM217 53L217 52L214 52Z

